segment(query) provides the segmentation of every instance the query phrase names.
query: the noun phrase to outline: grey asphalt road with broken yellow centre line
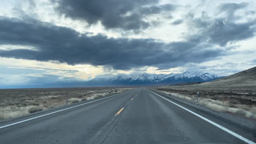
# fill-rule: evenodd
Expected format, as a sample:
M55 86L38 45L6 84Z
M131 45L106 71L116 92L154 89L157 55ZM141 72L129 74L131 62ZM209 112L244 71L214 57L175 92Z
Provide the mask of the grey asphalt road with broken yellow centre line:
M84 105L76 104L80 106L72 109L67 108L75 105L63 107L67 110L31 121L26 119L61 109L14 119L0 124L0 143L246 143L168 100L172 99L137 88L113 97L85 101L80 103ZM256 141L252 131L178 101L174 103Z

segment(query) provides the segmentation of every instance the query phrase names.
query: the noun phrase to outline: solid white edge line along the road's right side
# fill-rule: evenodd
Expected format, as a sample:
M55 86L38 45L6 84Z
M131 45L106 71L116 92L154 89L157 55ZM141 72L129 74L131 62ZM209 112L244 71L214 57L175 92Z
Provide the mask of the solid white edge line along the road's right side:
M150 91L150 90L148 89L148 91ZM152 92L152 91L150 91L150 92ZM152 93L154 93L154 92L152 92ZM195 112L193 112L193 111L190 111L189 109L187 109L187 108L185 108L185 107L183 107L183 106L181 106L181 105L178 105L178 104L174 103L173 101L168 100L168 99L162 97L161 95L159 95L159 94L157 94L157 93L154 93L154 94L156 94L156 95L158 95L159 97L161 97L161 98L163 98L163 99L165 99L165 100L171 102L171 103L174 104L174 105L177 105L177 106L181 107L182 109L184 109L184 110L186 110L186 111L192 113L193 115L202 118L202 119L205 120L206 122L209 122L209 123L215 125L216 127L218 127L218 128L220 128L220 129L226 131L227 133L229 133L229 134L231 134L231 135L237 137L238 139L240 139L240 140L242 140L242 141L245 141L246 143L255 144L253 141L250 141L250 140L246 139L245 137L234 133L233 131L231 131L231 130L225 128L225 127L223 127L222 125L219 125L219 124L217 124L217 123L214 123L214 122L211 121L210 119L207 119L207 118L205 118L205 117L203 117L203 116L201 116L201 115L199 115L199 114L197 114L197 113L195 113Z

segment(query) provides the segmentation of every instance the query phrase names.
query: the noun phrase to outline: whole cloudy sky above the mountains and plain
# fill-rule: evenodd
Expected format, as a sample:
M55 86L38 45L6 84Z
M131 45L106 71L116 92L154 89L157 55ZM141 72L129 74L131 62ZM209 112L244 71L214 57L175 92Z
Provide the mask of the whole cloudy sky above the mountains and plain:
M1 0L0 88L256 66L256 2Z

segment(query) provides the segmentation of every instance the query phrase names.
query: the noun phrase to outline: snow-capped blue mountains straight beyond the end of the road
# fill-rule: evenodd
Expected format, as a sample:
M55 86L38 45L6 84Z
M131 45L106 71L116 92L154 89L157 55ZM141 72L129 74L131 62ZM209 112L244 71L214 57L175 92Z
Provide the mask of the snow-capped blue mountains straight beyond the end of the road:
M109 85L161 85L176 84L183 82L205 82L221 78L220 76L202 73L201 71L185 71L180 74L118 74L108 77L96 77L88 84L92 86L109 86Z

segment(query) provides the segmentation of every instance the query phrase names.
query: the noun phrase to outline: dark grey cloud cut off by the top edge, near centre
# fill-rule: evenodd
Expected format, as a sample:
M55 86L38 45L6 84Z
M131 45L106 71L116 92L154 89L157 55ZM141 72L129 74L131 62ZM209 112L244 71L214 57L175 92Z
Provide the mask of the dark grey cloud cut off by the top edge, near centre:
M171 4L150 6L159 0L63 0L55 1L58 4L56 11L72 19L85 20L91 24L101 21L105 28L121 28L124 30L144 29L150 23L143 18L150 14L159 14L162 11L172 11L176 6Z

